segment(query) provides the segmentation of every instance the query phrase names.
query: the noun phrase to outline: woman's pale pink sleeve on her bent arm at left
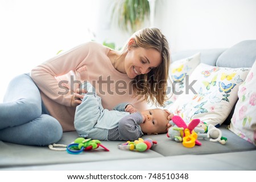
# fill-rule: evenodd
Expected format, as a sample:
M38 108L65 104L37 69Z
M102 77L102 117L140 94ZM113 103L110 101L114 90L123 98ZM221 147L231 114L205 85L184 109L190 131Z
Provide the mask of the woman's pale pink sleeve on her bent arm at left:
M68 52L62 53L36 66L31 70L31 78L48 98L70 107L73 96L71 92L73 91L67 87L64 89L56 77L85 65L85 60L89 53L90 43L76 46Z

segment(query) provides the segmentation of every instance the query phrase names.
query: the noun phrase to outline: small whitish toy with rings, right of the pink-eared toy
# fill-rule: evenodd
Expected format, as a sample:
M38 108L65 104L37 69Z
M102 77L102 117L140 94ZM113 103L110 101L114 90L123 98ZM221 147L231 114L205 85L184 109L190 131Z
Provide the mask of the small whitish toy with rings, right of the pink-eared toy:
M222 132L220 129L216 128L212 124L207 125L205 122L200 121L199 125L196 126L195 132L199 137L210 138L211 142L220 142L222 145L228 141L227 138L222 137Z

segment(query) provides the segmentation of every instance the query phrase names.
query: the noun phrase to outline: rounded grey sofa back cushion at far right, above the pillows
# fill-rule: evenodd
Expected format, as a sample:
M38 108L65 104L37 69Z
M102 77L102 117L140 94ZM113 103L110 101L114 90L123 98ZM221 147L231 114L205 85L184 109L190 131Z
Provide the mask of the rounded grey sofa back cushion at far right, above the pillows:
M256 40L245 40L225 50L218 57L216 66L251 67L256 59Z

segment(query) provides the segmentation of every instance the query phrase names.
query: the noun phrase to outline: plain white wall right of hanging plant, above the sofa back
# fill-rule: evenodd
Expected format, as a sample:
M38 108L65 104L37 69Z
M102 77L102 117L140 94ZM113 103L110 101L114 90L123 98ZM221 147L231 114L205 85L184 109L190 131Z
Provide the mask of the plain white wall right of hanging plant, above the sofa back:
M156 0L155 19L173 52L256 39L255 0Z

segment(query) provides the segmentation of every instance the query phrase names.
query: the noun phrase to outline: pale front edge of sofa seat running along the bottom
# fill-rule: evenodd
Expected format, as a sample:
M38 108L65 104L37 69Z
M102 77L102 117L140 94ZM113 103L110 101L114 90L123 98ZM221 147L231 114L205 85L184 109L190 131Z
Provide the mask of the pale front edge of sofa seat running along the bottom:
M129 151L127 151L129 153ZM250 157L248 157L250 156ZM66 163L66 164L52 164L43 166L25 166L25 167L11 167L2 168L1 170L12 171L126 171L126 174L135 174L134 171L145 172L149 171L216 171L218 176L220 172L226 171L251 171L256 170L256 150L242 151L237 153L222 153L209 155L174 155L174 156L160 156L156 158L142 158L142 159L122 159L122 160L104 160L96 162L80 162L80 163ZM55 172L56 173L56 172ZM246 173L246 176L248 173ZM57 175L56 175L57 176ZM163 173L164 176L164 173ZM230 176L226 175L230 180ZM233 177L237 177L234 175ZM242 177L242 176L241 176ZM197 176L195 177L197 178ZM52 178L51 178L52 179ZM223 180L223 178L222 178ZM150 181L150 180L148 180ZM216 181L216 180L214 180Z

